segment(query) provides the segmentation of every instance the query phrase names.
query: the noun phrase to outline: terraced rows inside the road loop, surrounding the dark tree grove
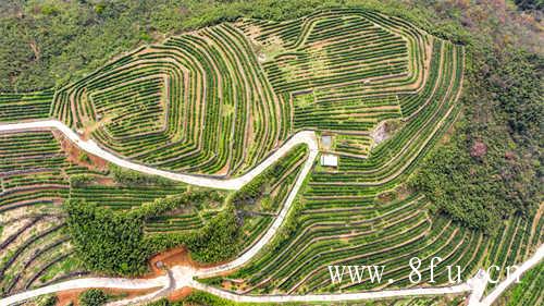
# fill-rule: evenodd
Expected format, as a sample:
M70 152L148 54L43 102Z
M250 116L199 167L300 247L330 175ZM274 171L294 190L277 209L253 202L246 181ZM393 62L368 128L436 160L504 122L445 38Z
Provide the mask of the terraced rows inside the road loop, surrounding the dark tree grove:
M262 235L285 200L306 157L297 147L274 163L263 198L239 206L240 231L247 248ZM0 289L2 296L88 272L82 268L65 232L61 204L65 199L97 203L126 210L187 191L171 181L128 184L108 164L87 156L58 132L30 131L0 135ZM264 174L263 174L264 175ZM195 189L195 187L191 187ZM145 224L146 235L185 235L203 228L223 207L196 204L169 211Z

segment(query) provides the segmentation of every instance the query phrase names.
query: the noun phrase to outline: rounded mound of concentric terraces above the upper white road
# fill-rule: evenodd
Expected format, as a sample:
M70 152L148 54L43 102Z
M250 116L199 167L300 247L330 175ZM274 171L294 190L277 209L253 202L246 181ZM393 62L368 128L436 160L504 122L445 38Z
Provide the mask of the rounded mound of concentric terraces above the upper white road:
M223 175L260 161L289 122L228 24L138 49L60 88L52 115L143 163Z

